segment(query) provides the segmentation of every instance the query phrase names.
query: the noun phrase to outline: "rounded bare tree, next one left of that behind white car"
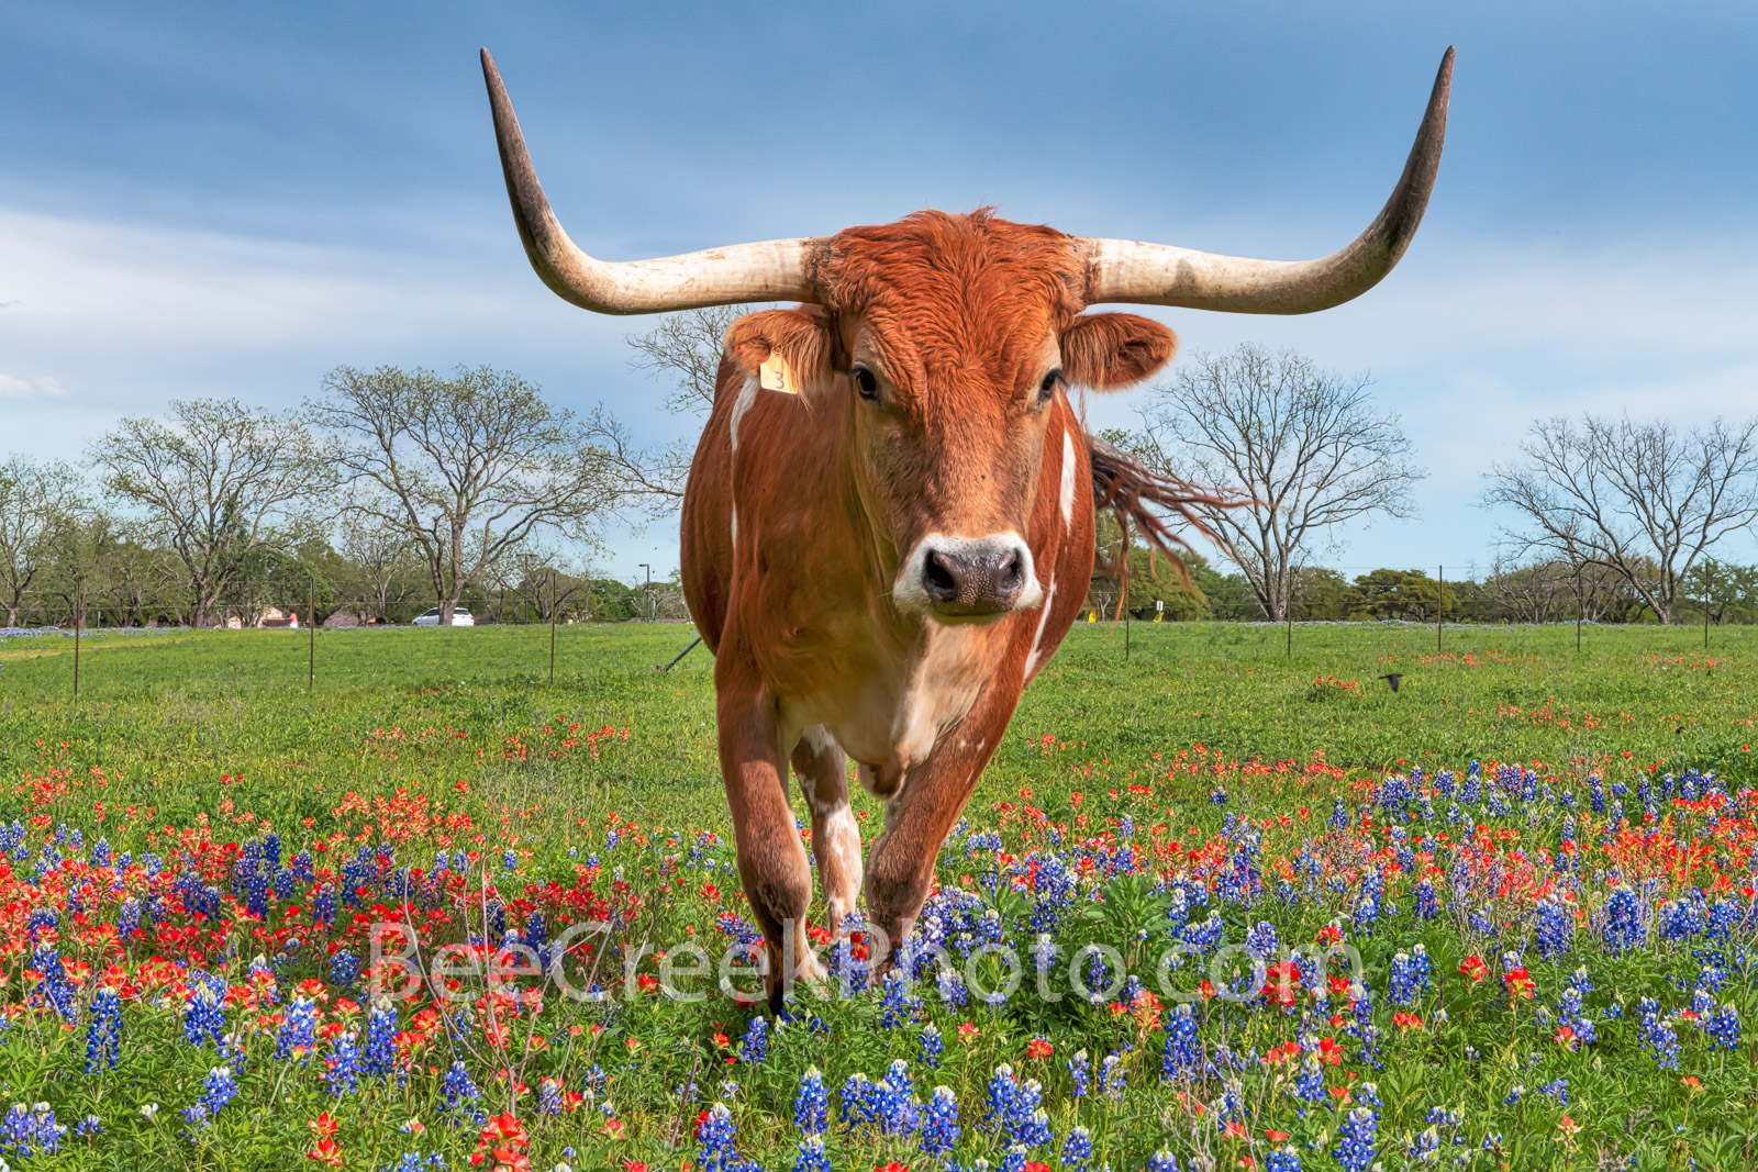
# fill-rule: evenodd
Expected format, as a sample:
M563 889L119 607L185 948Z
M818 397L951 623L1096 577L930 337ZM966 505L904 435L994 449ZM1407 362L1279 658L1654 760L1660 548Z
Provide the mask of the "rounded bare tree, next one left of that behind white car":
M169 422L125 418L91 446L104 487L141 510L141 529L178 555L206 626L264 548L322 518L334 485L299 420L236 399L174 399Z

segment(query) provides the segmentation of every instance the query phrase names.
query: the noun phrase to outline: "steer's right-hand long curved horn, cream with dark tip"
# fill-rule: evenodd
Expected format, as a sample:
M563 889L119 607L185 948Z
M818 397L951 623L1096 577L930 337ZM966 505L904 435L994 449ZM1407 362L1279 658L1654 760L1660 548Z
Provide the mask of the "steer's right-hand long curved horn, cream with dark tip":
M1086 241L1086 300L1231 313L1313 313L1366 293L1392 271L1422 223L1447 137L1452 49L1392 197L1355 241L1318 260L1253 260L1139 241Z

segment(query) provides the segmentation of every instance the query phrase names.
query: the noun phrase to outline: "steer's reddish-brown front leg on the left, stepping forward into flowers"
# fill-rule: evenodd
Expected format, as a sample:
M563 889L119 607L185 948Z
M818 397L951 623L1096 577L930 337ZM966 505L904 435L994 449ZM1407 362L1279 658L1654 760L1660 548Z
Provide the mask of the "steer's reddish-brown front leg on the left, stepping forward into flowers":
M775 699L756 680L737 641L723 643L714 664L716 720L721 734L721 777L733 810L738 880L751 901L768 951L763 977L772 1012L793 984L789 961L810 956L803 938L812 903L812 870L788 805L788 763L775 724Z

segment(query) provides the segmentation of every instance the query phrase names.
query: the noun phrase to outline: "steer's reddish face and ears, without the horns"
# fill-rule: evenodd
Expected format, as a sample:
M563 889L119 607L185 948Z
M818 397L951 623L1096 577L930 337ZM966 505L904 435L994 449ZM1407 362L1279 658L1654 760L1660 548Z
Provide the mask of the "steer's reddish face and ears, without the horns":
M986 213L839 232L816 283L823 309L740 318L728 350L752 378L779 355L803 394L847 399L854 481L890 546L897 606L981 622L1042 603L1025 538L1051 404L1067 387L1153 374L1173 332L1079 316L1079 241Z

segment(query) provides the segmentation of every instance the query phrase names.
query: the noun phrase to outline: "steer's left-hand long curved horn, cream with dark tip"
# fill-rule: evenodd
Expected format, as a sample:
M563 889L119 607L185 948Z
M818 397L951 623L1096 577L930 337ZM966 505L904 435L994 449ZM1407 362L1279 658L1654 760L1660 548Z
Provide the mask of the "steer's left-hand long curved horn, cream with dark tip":
M494 137L506 174L506 199L526 246L531 267L563 300L596 313L663 313L700 306L733 306L752 300L817 300L812 281L816 239L733 244L682 257L612 264L587 257L568 239L526 151L519 116L494 69L482 51L482 76L489 83Z

